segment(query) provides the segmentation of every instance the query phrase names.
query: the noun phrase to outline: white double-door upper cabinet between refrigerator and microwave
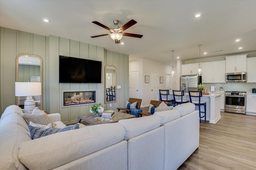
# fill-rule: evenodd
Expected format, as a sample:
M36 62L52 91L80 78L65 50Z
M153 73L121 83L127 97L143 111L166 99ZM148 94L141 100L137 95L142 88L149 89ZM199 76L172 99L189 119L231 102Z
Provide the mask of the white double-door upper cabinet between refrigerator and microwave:
M226 83L225 60L202 63L202 83Z

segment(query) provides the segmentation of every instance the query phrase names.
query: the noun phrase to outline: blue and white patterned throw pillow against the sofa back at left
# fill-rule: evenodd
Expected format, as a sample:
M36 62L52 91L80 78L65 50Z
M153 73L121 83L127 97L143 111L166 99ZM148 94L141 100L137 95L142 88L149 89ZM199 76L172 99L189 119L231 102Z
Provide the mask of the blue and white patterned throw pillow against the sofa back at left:
M28 125L28 130L31 136L31 139L37 139L40 137L44 137L47 135L52 135L58 132L64 132L69 130L79 129L79 124L69 125L62 129L60 128L42 128L42 127L34 127L32 125Z

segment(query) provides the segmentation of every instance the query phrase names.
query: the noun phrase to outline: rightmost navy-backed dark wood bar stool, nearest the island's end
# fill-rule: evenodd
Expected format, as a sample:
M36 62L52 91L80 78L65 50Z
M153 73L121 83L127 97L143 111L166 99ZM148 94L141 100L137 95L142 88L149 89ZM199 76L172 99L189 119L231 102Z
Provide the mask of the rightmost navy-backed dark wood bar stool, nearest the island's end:
M188 93L189 93L190 103L193 103L199 107L199 117L200 117L200 123L201 123L202 117L204 117L204 120L206 120L206 102L201 101L202 91L188 91ZM196 100L192 100L192 98L196 99ZM200 106L204 106L204 112L202 111L202 113L204 113L204 116L201 116L201 107Z

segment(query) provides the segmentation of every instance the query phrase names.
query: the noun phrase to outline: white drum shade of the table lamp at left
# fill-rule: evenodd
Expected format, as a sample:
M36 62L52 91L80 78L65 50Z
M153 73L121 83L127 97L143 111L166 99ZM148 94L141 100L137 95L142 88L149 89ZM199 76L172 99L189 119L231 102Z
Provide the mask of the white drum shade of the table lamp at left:
M15 82L15 96L41 95L41 82Z

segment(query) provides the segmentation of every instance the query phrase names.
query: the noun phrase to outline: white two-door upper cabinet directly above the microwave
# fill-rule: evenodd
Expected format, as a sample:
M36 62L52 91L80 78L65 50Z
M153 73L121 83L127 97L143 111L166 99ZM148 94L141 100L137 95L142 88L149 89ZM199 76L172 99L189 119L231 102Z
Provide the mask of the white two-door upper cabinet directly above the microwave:
M246 57L247 54L226 57L226 73L247 72Z

